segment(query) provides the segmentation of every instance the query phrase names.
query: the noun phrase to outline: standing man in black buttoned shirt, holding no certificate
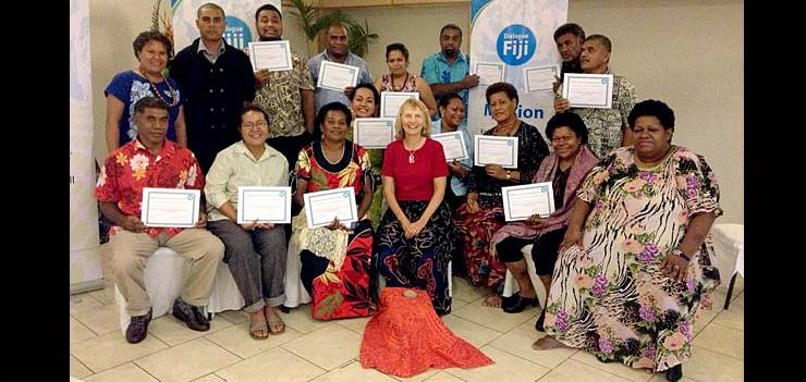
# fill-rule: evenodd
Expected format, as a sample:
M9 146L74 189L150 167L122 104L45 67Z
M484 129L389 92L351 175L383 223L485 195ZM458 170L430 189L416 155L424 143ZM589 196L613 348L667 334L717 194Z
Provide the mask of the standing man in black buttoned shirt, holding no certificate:
M196 16L200 37L176 54L170 76L185 95L187 147L207 173L218 151L241 139L241 110L255 98L255 81L246 53L222 38L224 10L206 3Z

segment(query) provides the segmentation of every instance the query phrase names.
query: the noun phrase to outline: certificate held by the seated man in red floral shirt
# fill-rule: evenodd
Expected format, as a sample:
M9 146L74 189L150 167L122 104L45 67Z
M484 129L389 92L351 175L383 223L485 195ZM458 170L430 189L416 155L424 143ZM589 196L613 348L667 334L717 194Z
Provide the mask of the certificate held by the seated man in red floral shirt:
M141 220L146 226L192 227L198 221L202 192L179 188L143 188Z

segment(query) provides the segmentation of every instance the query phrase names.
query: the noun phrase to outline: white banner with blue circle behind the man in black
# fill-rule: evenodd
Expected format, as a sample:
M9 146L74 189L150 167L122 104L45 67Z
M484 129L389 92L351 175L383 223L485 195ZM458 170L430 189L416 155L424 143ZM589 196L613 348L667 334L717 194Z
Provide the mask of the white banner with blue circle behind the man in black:
M282 12L281 0L171 0L173 49L175 52L184 49L199 37L196 27L196 12L202 4L212 2L224 10L227 44L243 49L249 41L257 40L255 30L255 11L264 4L272 4Z

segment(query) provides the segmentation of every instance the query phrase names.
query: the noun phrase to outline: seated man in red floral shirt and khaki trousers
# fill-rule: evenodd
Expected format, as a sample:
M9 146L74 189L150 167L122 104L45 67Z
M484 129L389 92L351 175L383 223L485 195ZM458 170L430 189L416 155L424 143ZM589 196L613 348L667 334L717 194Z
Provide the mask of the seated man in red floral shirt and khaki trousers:
M95 188L101 212L114 222L108 245L114 282L132 316L126 329L126 341L132 344L145 340L151 320L144 287L146 259L158 247L168 247L192 260L182 293L173 304L173 316L195 331L207 331L210 324L202 307L207 305L224 251L221 241L204 230L204 209L193 229L149 227L139 219L143 187L202 190L205 177L193 152L166 139L164 101L144 97L135 103L134 112L137 139L109 153Z

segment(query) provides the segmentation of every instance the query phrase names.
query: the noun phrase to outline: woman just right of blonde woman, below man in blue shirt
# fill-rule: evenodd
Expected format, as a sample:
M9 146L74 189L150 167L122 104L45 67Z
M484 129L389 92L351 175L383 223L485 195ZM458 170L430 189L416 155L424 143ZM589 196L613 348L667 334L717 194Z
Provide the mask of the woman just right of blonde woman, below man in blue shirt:
M451 186L445 188L444 200L451 207L451 210L455 211L459 206L465 202L467 197L465 182L473 169L473 136L467 131L467 124L465 123L465 107L462 103L462 97L451 93L442 96L437 104L442 118L431 124L431 134L460 132L467 150L467 159L448 162L448 169L450 170L449 184Z

